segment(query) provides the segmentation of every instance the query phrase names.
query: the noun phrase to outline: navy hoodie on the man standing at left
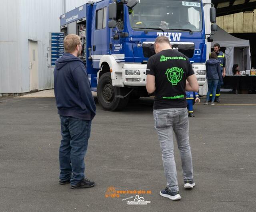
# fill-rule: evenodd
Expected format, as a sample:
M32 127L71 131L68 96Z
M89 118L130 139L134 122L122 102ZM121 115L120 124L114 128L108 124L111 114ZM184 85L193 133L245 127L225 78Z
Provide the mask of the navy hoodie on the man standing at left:
M96 106L83 61L64 53L55 63L54 93L58 114L92 120Z

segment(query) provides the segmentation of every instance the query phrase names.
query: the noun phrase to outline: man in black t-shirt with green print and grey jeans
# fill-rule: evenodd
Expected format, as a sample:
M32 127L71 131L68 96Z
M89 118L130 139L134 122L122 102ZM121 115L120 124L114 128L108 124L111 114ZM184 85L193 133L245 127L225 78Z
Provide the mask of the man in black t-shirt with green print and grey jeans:
M171 200L181 198L178 188L172 131L176 135L182 160L184 188L195 186L188 138L186 91L198 91L198 82L189 59L172 50L168 38L160 36L154 44L156 54L148 59L148 93L155 92L154 127L157 130L167 186L160 195ZM186 83L186 80L188 83Z

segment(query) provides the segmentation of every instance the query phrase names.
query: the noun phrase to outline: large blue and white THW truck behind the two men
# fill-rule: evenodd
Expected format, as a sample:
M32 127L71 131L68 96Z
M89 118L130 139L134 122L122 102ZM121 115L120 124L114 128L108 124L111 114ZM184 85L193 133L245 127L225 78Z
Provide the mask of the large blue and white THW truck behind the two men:
M186 55L199 85L206 82L206 42L202 0L98 0L60 16L64 36L77 34L92 91L109 111L130 98L146 97L146 66L157 36ZM215 8L210 8L216 22ZM207 23L210 24L210 23ZM214 25L212 24L213 29ZM208 36L208 41L210 35Z

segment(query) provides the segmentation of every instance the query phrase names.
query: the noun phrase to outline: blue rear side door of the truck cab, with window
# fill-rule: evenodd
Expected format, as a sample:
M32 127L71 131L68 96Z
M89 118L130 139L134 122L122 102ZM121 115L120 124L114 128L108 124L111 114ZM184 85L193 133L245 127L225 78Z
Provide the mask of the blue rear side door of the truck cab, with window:
M103 39L106 40L106 18L107 18L107 7L104 7L105 2L99 2L94 4L93 9L93 22L92 22L92 59L93 67L100 68L100 58L102 54L106 54L106 51L102 51ZM106 42L105 42L106 43ZM105 44L106 45L106 44ZM106 50L106 46L104 49Z

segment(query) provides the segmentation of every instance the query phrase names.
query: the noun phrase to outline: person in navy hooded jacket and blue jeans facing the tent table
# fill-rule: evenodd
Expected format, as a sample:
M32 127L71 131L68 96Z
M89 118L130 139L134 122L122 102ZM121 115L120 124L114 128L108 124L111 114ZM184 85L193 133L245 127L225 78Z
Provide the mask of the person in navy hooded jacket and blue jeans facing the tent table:
M206 95L205 105L208 105L210 101L210 94L212 93L211 105L215 105L214 100L216 97L216 90L218 83L223 84L222 73L220 71L220 61L218 60L217 54L215 52L210 53L210 59L205 63L206 65L206 78L208 83L208 92Z

